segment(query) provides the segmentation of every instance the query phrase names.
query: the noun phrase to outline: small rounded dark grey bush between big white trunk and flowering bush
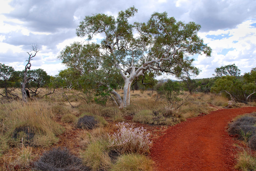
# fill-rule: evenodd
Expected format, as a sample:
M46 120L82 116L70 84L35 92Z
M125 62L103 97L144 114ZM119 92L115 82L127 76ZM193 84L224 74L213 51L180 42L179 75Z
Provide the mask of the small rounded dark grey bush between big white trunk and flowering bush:
M93 116L83 116L77 121L77 128L93 129L98 124L97 120Z

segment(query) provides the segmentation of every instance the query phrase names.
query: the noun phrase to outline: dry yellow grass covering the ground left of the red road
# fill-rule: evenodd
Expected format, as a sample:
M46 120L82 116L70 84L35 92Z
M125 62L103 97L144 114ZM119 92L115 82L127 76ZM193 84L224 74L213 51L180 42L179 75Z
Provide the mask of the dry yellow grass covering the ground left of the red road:
M121 90L118 92L122 93ZM153 94L152 91L141 93L139 90L131 92L131 105L122 110L119 110L111 100L108 100L106 106L103 107L93 102L85 104L84 101L79 101L71 95L70 102L76 106L74 108L61 95L50 95L39 100L33 100L28 104L18 101L2 101L0 104L0 157L1 159L5 157L6 164L11 168L13 167L12 162L23 153L20 152L22 149L19 146L21 139L12 138L16 128L21 126L32 128L35 136L30 145L37 146L38 149L42 149L42 147L46 149L58 142L56 135L61 134L64 130L63 127L66 132L76 130L77 117L87 113L87 115L95 116L100 121L100 127L90 131L79 130L80 147L78 149L80 148L79 150L82 151L81 157L83 157L85 164L93 170L99 168L108 168L109 170L144 168L141 170L152 170L152 161L145 156L120 156L116 163L109 159L107 154L109 151L106 149L107 133L114 132L111 130L113 129L113 122L125 121L124 118L127 116L135 116L134 122L172 125L183 121L184 118L195 117L200 113L216 110L209 104L224 107L228 101L226 97L212 93L194 93L192 97L194 98L193 101L187 102L177 111L174 111L167 102L156 100L156 92ZM255 102L251 102L250 105L256 106ZM138 121L136 117L145 110L150 111L149 114L144 113L143 118L139 118L143 120ZM145 121L145 118L150 119ZM19 138L22 138L24 134L20 133L19 135ZM72 146L70 147L72 148ZM27 150L28 153L26 154L29 154L30 149L31 147L23 149L23 151ZM33 156L32 152L30 154ZM9 159L7 159L8 157Z

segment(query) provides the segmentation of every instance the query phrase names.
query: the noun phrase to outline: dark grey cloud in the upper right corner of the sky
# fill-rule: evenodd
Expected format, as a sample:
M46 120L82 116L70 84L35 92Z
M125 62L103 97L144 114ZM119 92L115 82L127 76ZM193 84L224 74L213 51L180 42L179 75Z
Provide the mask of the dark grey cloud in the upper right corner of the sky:
M189 12L190 18L202 26L201 31L231 29L246 19L255 18L256 2L199 1Z

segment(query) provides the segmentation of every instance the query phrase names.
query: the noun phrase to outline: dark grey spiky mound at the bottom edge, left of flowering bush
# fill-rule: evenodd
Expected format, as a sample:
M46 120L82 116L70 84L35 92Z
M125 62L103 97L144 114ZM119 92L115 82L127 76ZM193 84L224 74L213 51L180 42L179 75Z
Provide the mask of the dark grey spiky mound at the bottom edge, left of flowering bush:
M49 171L84 171L89 170L80 158L72 155L66 147L53 147L42 154L34 163L35 170Z

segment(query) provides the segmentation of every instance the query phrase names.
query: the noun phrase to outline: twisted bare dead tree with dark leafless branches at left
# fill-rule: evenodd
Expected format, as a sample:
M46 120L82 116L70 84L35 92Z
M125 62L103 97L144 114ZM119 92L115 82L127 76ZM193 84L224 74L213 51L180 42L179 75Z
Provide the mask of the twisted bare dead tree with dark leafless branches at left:
M22 83L22 89L21 89L21 91L22 91L22 100L23 100L24 102L27 102L27 101L28 101L28 95L27 95L26 90L25 90L26 84L27 84L27 82L28 82L29 79L33 79L33 78L31 78L31 77L27 77L27 72L28 72L28 70L30 70L30 67L31 67L31 60L33 60L32 58L33 58L34 56L36 56L36 54L37 54L38 51L39 51L38 45L37 45L37 44L32 44L32 45L31 45L31 51L30 51L30 52L27 52L28 55L29 55L29 57L28 57L28 59L26 60L27 64L26 64L25 70L24 70L24 82Z

